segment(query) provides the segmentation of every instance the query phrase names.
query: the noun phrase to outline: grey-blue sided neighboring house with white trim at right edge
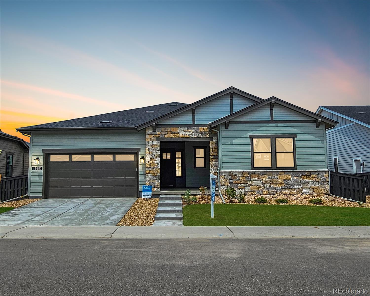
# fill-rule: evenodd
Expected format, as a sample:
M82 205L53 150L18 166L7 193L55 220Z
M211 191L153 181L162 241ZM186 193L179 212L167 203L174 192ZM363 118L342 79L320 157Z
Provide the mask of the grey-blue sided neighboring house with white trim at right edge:
M326 132L329 169L370 172L370 105L320 106L316 113L338 122Z

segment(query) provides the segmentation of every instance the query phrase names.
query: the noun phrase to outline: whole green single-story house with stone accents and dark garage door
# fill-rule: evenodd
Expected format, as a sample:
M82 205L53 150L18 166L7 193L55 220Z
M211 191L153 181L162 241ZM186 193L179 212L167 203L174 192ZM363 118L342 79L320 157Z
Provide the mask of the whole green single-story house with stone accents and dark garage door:
M31 136L31 197L137 197L143 185L245 193L328 193L326 130L336 121L234 87L170 102L18 128ZM34 164L36 161L38 164ZM166 189L168 190L168 189ZM184 189L185 190L185 189Z

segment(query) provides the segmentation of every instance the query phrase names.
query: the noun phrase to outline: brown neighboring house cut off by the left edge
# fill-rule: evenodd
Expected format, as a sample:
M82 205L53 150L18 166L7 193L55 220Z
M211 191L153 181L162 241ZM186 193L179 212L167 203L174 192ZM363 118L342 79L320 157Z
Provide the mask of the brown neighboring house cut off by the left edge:
M28 143L0 130L0 174L16 177L28 174Z

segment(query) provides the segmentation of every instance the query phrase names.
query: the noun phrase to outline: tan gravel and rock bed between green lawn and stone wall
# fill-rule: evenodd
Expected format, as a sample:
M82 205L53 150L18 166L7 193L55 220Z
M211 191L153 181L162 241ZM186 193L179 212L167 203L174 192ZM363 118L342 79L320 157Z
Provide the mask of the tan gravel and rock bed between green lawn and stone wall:
M252 205L257 205L258 203L255 201L256 197L264 197L267 199L267 203L262 203L263 205L306 205L306 206L340 206L340 207L360 207L360 204L357 202L351 202L347 199L341 198L339 196L332 196L332 195L324 195L324 194L297 194L297 195L282 195L282 194L275 194L275 195L263 195L263 194L256 194L256 195L246 195L244 197L244 203L249 203ZM192 202L191 204L202 204L202 203L209 203L210 198L209 196L201 196L196 195L198 201ZM288 203L277 203L276 200L279 198L285 198L288 200ZM313 198L321 198L323 200L322 205L314 205L309 201ZM225 202L229 203L229 199L224 196ZM215 197L215 203L222 203L221 197ZM238 203L237 199L233 199L232 203ZM183 205L188 204L184 202ZM363 208L370 208L370 196L366 196L366 203L361 205Z

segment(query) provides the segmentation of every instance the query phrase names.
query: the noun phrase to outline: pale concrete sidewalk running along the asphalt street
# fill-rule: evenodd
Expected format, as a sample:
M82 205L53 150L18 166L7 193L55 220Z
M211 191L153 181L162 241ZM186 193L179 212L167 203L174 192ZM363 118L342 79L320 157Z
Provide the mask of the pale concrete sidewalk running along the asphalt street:
M370 226L1 226L1 238L370 238Z

